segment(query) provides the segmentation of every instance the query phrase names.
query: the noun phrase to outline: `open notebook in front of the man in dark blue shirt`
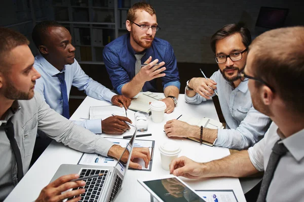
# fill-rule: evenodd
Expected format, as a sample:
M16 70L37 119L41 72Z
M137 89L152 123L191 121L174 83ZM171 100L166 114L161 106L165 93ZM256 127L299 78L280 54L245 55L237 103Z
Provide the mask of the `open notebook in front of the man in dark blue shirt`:
M137 98L132 98L131 105L129 106L130 110L133 111L143 111L150 113L150 102L161 100L165 98L164 94L156 94L149 91L141 93Z

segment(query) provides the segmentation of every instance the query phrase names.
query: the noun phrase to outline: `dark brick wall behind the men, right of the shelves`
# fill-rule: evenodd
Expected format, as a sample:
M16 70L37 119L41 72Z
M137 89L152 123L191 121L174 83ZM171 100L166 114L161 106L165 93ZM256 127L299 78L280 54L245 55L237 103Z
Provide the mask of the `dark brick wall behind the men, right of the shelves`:
M162 30L157 37L168 40L178 62L215 63L210 48L212 34L225 24L243 21L253 37L266 29L255 28L261 6L289 8L287 25L304 25L302 0L150 0Z

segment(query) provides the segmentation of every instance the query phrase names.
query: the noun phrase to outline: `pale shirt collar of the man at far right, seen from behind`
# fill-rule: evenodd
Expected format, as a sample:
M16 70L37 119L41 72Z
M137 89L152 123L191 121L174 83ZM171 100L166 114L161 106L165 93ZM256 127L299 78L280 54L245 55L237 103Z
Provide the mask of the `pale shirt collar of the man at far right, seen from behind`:
M297 161L300 161L304 157L304 129L283 139L282 142Z

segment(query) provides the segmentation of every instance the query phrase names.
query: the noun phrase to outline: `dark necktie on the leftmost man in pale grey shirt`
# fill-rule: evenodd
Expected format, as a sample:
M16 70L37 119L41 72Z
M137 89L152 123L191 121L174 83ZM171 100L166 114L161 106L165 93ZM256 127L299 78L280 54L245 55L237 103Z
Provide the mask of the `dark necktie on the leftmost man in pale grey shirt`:
M8 137L8 139L10 140L11 147L13 149L16 163L17 163L17 178L18 178L18 182L20 182L20 180L23 177L22 159L21 159L21 154L20 154L20 150L19 150L17 141L15 139L14 125L13 125L11 119L12 118L10 118L6 124L4 124L4 123L1 124L0 129L5 130L5 133Z

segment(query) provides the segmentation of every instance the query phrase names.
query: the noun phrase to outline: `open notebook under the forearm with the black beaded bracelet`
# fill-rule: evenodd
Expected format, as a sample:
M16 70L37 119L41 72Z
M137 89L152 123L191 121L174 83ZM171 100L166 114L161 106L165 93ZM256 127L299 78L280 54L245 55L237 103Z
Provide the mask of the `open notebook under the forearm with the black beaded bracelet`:
M203 126L204 128L210 128L210 129L223 129L224 128L223 124L220 123L219 121L215 121L214 119L210 119L210 118L206 118L206 117L199 119L199 118L190 117L187 115L181 115L178 120L186 122L190 125ZM187 139L191 139L193 141L200 142L200 139L195 138L195 137L187 137ZM203 144L213 146L212 143L206 142L206 141L203 141Z

